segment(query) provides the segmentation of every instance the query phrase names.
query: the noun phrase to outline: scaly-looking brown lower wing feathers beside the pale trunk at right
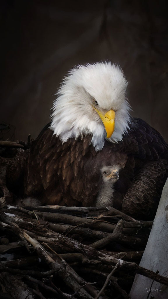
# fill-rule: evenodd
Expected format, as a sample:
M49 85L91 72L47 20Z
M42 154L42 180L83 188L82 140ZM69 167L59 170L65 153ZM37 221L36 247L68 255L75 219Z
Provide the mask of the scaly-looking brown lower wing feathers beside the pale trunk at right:
M124 201L123 212L139 219L153 218L167 178L167 161L144 163L133 178Z

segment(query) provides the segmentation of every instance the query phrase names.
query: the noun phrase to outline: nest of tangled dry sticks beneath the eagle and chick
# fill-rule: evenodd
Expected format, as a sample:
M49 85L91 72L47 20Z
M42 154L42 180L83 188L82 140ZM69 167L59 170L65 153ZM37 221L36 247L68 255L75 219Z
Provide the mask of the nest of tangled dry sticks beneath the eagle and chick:
M138 266L152 223L112 207L5 205L1 298L130 298L136 273L168 286Z

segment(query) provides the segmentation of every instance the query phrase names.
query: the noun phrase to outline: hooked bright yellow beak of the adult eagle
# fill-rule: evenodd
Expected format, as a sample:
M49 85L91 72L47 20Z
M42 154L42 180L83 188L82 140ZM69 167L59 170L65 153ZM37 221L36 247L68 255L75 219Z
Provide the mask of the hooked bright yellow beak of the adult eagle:
M93 108L96 110L101 120L103 121L104 127L107 132L106 138L110 138L114 132L115 128L115 112L114 110L109 110L105 115L103 115L99 110L97 110L94 106Z

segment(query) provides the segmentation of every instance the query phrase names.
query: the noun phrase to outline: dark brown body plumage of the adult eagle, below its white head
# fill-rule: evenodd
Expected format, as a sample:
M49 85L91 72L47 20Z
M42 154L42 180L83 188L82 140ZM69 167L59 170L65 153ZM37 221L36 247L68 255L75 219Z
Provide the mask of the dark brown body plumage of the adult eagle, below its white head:
M114 207L138 218L152 217L168 175L168 146L161 135L143 120L133 118L128 134L119 143L106 141L96 152L90 141L87 135L62 144L46 129L30 149L26 194L51 205L93 206L102 165L125 163L115 184Z

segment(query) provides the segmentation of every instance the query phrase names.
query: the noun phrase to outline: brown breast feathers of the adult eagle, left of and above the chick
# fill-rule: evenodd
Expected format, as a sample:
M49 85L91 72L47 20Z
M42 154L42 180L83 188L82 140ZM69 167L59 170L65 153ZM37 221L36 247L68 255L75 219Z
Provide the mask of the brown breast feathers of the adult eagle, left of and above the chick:
M71 139L62 145L50 130L45 131L31 149L26 193L39 191L48 204L72 205L73 201L76 205L93 205L101 183L100 165L124 162L126 155L112 155L109 147L95 152L90 138Z

